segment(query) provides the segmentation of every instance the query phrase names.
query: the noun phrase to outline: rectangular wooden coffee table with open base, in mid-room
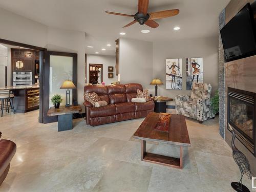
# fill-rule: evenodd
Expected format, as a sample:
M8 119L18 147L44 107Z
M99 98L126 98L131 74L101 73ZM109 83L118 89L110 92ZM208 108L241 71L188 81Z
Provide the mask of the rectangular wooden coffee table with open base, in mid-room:
M182 147L190 146L185 117L184 115L172 115L168 132L154 130L158 119L159 113L148 114L133 135L134 138L141 140L141 160L182 169ZM147 153L146 141L178 145L180 146L180 158Z

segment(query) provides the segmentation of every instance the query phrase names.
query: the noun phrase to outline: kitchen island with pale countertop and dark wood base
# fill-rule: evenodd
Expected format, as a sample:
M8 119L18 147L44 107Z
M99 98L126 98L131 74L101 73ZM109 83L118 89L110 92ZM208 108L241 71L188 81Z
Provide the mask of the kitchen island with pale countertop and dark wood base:
M0 89L13 92L13 105L16 113L26 113L39 109L39 84L32 84L31 86L9 86Z

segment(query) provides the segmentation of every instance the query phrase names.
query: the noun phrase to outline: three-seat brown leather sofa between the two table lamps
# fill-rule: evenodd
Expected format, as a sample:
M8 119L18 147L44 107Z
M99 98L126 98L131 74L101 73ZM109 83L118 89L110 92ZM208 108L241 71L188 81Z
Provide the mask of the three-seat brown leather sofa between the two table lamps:
M86 122L92 126L137 119L146 117L154 111L155 103L152 99L145 103L132 102L136 97L137 89L143 91L141 84L114 84L110 86L92 85L85 86L84 93L97 93L101 100L108 105L94 108L92 104L84 99L86 106Z

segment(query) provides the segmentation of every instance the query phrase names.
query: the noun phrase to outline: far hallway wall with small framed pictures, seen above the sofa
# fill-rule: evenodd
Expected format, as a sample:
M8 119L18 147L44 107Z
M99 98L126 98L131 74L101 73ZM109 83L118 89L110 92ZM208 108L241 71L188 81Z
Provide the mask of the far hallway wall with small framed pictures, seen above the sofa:
M111 55L94 55L87 54L87 82L89 82L89 64L102 64L103 65L103 81L105 84L111 84L113 81L117 81L116 76L116 57ZM108 78L108 67L114 67L114 78Z

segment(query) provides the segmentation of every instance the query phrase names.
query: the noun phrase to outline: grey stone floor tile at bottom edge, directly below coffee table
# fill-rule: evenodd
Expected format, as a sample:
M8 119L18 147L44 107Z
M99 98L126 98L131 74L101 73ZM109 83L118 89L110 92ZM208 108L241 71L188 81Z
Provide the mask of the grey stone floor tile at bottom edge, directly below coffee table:
M198 174L174 172L165 167L154 167L148 192L203 191Z

